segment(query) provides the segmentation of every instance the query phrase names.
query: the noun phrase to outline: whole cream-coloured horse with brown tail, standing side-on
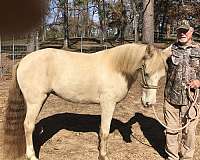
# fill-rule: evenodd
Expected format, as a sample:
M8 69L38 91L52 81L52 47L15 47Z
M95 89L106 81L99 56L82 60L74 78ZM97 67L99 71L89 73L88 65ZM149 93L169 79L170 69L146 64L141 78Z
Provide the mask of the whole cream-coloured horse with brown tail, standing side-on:
M93 54L53 48L28 54L13 69L4 120L4 159L26 155L38 160L32 134L43 104L54 94L74 103L100 104L98 159L108 160L107 140L116 104L127 95L144 66L149 91L145 90L142 101L155 103L156 89L151 85L157 85L163 76L163 62L155 47L136 43Z

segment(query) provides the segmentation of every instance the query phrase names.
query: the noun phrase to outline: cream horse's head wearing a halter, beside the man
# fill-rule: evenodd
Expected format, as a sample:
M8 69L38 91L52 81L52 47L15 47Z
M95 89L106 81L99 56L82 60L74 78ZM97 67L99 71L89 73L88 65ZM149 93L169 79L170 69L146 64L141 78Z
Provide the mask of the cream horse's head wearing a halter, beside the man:
M142 103L145 107L156 103L158 81L166 73L166 59L159 49L148 45L142 65Z

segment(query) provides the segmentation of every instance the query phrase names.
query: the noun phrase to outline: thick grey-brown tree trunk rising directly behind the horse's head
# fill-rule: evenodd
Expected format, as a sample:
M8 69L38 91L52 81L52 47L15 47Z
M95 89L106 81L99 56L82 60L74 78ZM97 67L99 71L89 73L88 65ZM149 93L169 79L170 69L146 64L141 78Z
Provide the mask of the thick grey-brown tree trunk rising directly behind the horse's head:
M154 42L154 0L143 0L143 36L144 43Z

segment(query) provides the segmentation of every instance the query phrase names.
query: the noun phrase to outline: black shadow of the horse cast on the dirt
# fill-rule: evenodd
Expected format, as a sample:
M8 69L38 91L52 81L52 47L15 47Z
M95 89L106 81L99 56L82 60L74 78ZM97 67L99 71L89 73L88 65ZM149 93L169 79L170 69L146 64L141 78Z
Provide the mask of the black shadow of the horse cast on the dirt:
M74 132L96 132L99 133L101 117L99 115L61 113L40 120L33 133L34 149L39 157L40 147L61 129ZM140 128L151 146L162 156L166 157L164 151L165 138L164 128L153 118L136 113L128 122L123 123L112 119L110 132L119 130L123 140L131 142L132 124L138 122Z

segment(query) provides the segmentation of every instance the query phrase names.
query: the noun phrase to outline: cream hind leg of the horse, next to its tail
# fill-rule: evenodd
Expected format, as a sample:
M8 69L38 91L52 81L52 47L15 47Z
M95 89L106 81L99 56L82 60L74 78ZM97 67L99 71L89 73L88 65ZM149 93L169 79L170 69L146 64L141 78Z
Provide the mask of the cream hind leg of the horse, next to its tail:
M33 98L33 97L32 97ZM24 129L25 129L25 137L26 137L26 156L29 160L38 160L35 156L35 151L33 147L33 130L35 128L36 118L41 110L41 107L46 100L46 94L37 95L37 98L33 99L27 98L27 113L26 118L24 120Z

